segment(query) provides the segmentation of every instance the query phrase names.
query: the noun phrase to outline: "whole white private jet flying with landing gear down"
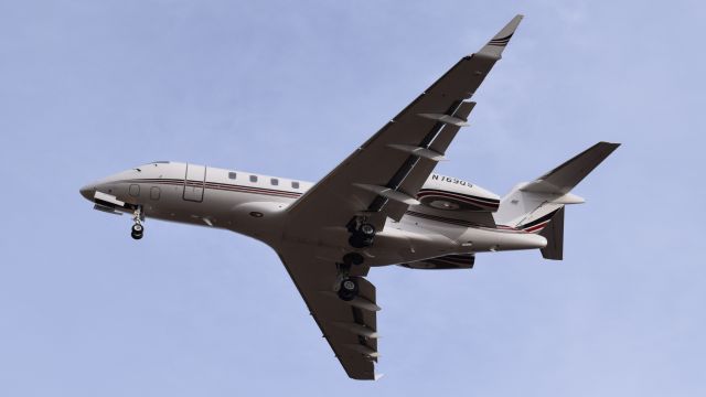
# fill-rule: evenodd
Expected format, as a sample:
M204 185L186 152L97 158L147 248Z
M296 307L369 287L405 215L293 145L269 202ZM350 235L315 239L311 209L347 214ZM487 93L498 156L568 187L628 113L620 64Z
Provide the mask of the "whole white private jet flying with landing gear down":
M564 256L571 190L620 144L598 142L504 197L434 173L477 92L517 29L513 18L314 183L156 161L81 189L96 210L236 232L269 245L349 377L377 379L372 267L471 269L480 253L539 249Z

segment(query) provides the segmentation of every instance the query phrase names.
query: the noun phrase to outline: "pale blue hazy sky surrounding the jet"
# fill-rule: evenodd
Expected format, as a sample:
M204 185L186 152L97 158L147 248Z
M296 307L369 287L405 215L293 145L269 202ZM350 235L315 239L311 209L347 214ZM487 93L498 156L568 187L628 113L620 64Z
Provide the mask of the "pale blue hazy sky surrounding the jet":
M0 2L0 395L703 396L698 1ZM439 172L499 194L599 141L565 260L374 269L349 380L266 246L90 210L180 160L315 181L516 13Z

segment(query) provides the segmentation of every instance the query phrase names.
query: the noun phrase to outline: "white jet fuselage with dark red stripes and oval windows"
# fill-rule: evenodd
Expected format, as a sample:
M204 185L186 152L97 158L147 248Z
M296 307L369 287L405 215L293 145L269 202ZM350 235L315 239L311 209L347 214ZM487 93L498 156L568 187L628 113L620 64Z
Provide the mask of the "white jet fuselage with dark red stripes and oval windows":
M89 201L94 201L95 192L100 192L141 206L146 218L233 230L259 239L276 250L282 244L309 246L318 257L331 257L335 261L342 253L351 250L344 227L332 227L325 237L315 239L286 233L287 207L311 186L309 182L284 178L156 162L94 182L84 186L81 193ZM417 212L411 210L399 222L388 219L384 229L377 233L374 246L363 250L368 265L395 265L450 254L532 249L546 245L546 239L535 234L451 224L416 216Z

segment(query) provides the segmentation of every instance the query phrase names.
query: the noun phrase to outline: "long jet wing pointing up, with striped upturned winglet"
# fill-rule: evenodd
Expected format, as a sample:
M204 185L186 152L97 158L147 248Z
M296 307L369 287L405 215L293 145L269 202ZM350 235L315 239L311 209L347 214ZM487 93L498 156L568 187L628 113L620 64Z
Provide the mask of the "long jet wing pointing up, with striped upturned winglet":
M461 58L288 210L307 232L363 215L382 229L399 221L436 163L467 125L473 96L520 24L515 17L475 54ZM300 221L300 222L297 222ZM288 233L297 234L297 230Z

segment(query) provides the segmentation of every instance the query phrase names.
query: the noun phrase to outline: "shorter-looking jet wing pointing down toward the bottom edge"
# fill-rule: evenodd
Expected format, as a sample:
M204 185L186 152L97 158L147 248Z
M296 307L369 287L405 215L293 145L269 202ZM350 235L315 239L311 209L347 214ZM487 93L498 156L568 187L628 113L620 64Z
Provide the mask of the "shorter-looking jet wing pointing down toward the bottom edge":
M361 277L359 296L343 301L332 291L336 269L331 261L313 258L303 246L280 247L278 253L345 373L354 379L375 379L379 310L375 286ZM367 268L363 267L352 271L352 276L365 273Z

